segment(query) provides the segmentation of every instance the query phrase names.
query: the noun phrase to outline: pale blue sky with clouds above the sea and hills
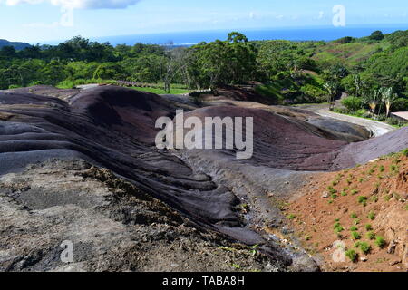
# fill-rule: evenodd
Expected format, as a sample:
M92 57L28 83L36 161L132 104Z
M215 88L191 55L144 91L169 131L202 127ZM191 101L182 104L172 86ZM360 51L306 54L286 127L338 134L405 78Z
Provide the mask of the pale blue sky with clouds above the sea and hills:
M184 31L407 24L407 0L0 0L0 39L44 43Z

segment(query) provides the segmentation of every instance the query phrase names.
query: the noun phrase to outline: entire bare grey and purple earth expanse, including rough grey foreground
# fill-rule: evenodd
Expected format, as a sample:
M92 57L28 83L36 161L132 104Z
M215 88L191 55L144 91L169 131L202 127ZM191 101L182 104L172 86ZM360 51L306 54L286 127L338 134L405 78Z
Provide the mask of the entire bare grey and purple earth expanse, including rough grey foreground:
M316 271L283 200L322 171L408 148L408 128L367 140L312 112L218 102L113 86L0 92L0 269ZM178 109L253 117L253 158L158 150L155 122Z

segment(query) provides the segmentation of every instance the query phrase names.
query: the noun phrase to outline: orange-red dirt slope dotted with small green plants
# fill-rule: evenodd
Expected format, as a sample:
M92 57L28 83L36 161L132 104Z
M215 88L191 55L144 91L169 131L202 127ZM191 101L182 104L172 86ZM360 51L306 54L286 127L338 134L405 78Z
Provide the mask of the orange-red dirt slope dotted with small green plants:
M401 154L324 173L290 200L287 217L309 253L321 256L325 271L404 272L408 269L407 178L408 159ZM353 231L361 237L353 237ZM374 237L368 237L369 232ZM384 247L376 245L377 237L384 237ZM339 249L338 242L345 248ZM364 253L355 247L358 242L371 249ZM355 263L348 257L345 262L334 258L350 249L358 254Z

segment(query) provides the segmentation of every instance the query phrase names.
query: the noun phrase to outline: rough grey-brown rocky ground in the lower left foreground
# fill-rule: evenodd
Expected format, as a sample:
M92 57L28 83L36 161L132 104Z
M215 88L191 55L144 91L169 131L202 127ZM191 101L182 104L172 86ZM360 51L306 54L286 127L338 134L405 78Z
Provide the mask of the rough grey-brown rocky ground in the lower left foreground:
M278 271L257 247L199 230L160 200L83 160L0 178L0 271ZM73 241L73 263L60 245Z

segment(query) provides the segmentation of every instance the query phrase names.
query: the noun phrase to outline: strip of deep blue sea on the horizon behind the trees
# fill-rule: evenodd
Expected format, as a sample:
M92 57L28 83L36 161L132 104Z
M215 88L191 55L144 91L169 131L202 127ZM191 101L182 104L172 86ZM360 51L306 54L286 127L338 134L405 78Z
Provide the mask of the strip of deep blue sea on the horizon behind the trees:
M381 30L384 34L393 33L396 30L407 30L408 24L395 25L370 25L370 26L346 26L346 27L310 27L310 28L275 28L237 30L246 34L249 40L291 40L291 41L332 41L345 36L363 37L368 36L375 30ZM106 36L91 38L100 43L109 42L112 45L135 43L154 43L174 45L193 45L201 42L212 42L217 39L226 40L229 32L233 30L214 30L166 34L134 34L123 36Z

